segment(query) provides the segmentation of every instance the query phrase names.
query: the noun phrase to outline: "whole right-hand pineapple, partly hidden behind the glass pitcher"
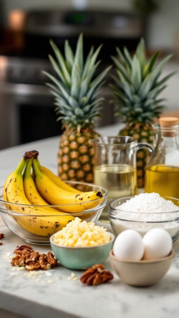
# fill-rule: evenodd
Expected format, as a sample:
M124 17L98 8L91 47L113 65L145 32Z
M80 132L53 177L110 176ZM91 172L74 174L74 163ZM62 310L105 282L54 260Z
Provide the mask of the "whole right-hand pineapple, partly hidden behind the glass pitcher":
M112 56L116 67L116 75L112 75L114 82L110 83L115 95L117 106L116 116L126 123L126 127L119 131L119 135L128 135L136 138L138 142L153 144L154 131L152 123L162 113L164 99L157 99L166 85L164 83L174 73L164 78L159 78L162 67L171 58L171 54L163 58L154 67L159 52L147 62L145 42L141 38L133 56L124 47L123 53L117 47L117 57ZM148 150L141 149L137 152L137 186L144 187L145 166L148 160Z

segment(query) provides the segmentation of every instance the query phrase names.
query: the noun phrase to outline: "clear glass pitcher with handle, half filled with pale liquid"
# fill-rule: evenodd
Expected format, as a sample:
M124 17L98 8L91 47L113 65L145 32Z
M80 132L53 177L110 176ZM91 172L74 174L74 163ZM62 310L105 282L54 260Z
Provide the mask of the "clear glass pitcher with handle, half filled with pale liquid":
M120 197L137 194L136 152L153 147L137 143L130 136L98 137L94 144L94 183L108 190L108 201L100 220L108 222L108 203Z

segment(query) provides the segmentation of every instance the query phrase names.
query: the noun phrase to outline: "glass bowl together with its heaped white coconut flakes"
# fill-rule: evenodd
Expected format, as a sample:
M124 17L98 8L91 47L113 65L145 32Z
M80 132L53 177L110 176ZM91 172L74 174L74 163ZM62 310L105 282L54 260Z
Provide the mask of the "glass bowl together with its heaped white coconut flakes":
M179 199L161 197L158 193L140 193L109 203L108 218L116 235L133 229L143 237L153 228L169 232L172 241L179 238Z

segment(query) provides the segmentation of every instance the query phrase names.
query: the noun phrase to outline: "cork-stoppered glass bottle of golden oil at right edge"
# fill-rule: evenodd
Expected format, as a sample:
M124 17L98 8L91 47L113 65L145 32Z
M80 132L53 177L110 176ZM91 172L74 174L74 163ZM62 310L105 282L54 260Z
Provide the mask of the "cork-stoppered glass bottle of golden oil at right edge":
M145 192L179 198L179 118L161 117L156 146L146 164Z

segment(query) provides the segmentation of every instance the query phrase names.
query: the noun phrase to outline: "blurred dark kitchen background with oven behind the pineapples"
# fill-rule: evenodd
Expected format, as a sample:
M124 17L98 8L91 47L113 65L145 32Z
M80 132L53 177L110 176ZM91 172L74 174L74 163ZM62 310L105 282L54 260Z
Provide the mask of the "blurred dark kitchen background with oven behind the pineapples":
M173 53L163 73L176 70L162 93L166 111L179 110L178 0L0 0L0 149L59 135L53 97L42 70L53 73L48 54L52 38L63 52L84 34L84 54L103 43L98 70L112 64L115 47L134 52L144 37L148 57ZM113 70L111 71L113 72ZM163 74L165 75L165 74ZM100 94L105 97L97 126L117 123L107 75Z

